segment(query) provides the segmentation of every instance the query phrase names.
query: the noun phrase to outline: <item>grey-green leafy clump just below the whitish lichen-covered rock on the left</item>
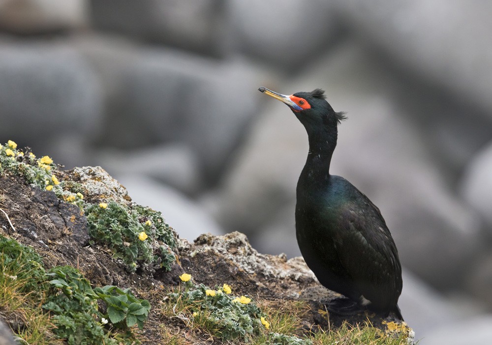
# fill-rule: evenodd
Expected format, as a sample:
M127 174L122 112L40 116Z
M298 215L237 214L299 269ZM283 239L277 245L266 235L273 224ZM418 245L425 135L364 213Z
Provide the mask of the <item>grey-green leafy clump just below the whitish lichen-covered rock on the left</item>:
M85 213L92 244L108 246L115 258L123 260L129 272L135 272L138 265L171 269L175 256L170 247L175 247L176 241L160 212L111 201L107 208L88 205ZM141 233L148 238L139 240Z

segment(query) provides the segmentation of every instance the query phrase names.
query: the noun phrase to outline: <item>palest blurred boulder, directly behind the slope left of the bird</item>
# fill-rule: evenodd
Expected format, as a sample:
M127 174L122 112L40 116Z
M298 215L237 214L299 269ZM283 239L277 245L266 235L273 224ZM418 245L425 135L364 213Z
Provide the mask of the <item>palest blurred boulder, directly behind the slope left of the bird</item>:
M204 232L224 233L200 205L179 191L141 175L122 174L117 178L126 186L134 202L161 211L180 237L194 239Z

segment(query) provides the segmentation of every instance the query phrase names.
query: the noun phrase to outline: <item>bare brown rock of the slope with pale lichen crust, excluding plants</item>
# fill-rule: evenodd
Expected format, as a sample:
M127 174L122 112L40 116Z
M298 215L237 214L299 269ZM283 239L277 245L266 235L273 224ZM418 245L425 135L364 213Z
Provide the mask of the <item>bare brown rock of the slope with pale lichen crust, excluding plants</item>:
M65 182L77 183L86 201L131 203L125 188L99 167L59 171L57 175ZM227 283L237 293L257 299L304 299L311 306L305 320L309 328L328 326L328 322L334 327L343 320L355 324L369 319L375 327L386 329L385 324L393 321L391 315L383 319L367 311L343 317L321 315L326 302L339 295L323 288L301 257L287 260L284 254L258 253L239 232L224 236L203 234L194 242L179 239L174 233L178 245L174 248L176 262L171 270L141 268L128 273L108 248L88 245L87 220L79 207L58 199L52 191L27 185L19 176L2 175L0 191L5 211L5 216L0 217L2 236L32 246L47 267L79 268L95 285L112 284L138 291L155 285L177 285L179 276L188 273L195 283L212 287ZM166 321L160 322L165 327Z

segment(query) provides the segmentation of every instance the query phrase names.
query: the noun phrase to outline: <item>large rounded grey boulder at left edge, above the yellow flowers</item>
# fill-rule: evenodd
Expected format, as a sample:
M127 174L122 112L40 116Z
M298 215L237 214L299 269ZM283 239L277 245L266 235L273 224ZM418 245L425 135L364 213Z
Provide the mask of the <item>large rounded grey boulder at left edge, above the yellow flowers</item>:
M3 42L0 121L8 126L0 127L1 142L12 139L72 166L74 160L80 163L85 144L98 134L101 117L98 81L74 49L65 44ZM70 146L70 152L64 151Z

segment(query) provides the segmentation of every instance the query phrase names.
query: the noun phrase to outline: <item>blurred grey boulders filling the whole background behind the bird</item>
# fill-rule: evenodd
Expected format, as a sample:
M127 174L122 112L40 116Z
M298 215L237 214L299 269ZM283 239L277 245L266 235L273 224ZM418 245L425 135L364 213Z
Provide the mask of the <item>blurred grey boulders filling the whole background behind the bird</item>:
M321 87L349 117L332 173L397 242L405 320L421 344L484 344L491 13L487 1L0 0L0 142L102 166L181 237L238 230L297 256L307 136L257 88Z

